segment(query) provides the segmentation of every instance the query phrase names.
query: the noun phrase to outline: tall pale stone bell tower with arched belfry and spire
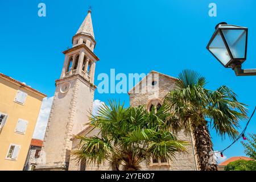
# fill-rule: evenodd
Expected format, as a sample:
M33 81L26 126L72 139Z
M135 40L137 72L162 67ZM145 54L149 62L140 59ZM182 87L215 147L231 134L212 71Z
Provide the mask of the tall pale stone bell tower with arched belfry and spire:
M91 11L72 39L73 47L64 51L65 61L56 90L37 170L67 170L72 135L88 122L92 110L94 73L99 60L93 53L94 40Z

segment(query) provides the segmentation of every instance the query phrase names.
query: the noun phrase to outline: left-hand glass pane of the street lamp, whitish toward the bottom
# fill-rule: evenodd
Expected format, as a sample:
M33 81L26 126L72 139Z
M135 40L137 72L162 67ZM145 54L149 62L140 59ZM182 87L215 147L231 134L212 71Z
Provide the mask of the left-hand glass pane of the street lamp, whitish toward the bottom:
M212 43L210 43L209 51L215 55L222 64L226 65L230 61L230 56L224 41L220 35L220 32L214 37Z

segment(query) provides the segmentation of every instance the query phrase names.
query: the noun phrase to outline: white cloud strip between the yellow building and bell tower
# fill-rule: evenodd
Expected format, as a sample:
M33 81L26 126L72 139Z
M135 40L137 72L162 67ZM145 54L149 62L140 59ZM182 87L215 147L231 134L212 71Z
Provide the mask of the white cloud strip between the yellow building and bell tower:
M46 97L43 99L40 113L38 115L38 121L36 122L33 138L44 139L44 133L46 132L46 126L49 118L49 113L52 107L53 97Z

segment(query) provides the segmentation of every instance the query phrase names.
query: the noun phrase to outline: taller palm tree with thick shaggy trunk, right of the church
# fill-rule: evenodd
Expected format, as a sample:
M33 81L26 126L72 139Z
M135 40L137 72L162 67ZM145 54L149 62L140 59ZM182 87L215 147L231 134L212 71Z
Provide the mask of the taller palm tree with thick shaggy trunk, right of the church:
M176 89L167 94L165 103L171 110L170 125L174 131L185 129L195 139L197 163L201 170L217 170L209 163L213 144L209 127L224 138L238 136L239 120L246 118L245 104L237 101L236 94L227 86L217 90L205 88L205 78L185 70L175 81Z

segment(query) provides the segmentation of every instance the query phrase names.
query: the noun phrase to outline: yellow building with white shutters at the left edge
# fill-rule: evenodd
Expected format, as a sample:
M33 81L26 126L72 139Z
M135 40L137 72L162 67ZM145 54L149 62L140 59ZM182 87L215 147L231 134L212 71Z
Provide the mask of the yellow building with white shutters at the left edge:
M0 171L23 169L44 97L0 73Z

